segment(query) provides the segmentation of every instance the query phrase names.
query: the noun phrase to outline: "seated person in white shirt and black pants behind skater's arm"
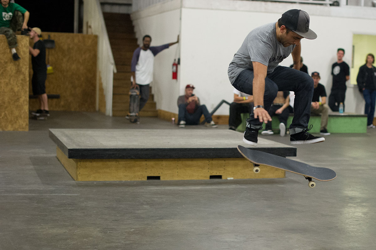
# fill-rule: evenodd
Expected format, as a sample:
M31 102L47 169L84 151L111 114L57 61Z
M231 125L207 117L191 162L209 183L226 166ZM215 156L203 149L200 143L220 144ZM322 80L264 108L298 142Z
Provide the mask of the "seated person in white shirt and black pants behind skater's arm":
M233 90L234 100L230 104L229 129L236 130L241 123L242 113L252 113L253 96Z

